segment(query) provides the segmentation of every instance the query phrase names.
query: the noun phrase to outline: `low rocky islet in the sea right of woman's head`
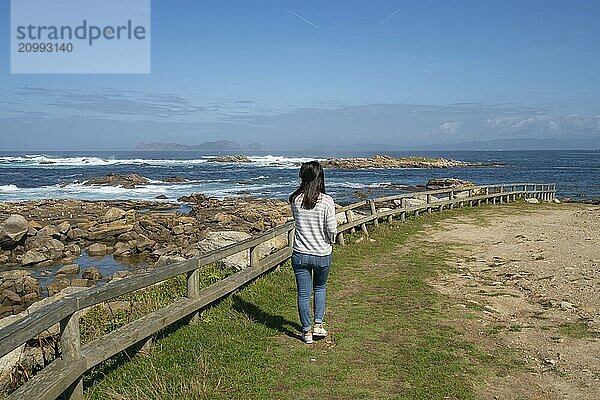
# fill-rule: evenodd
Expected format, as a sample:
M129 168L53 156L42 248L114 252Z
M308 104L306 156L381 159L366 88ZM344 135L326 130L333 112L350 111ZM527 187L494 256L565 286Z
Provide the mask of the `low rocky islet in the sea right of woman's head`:
M480 167L485 164L466 161L448 160L445 158L423 158L373 156L369 158L328 158L321 161L323 168L335 169L372 169L372 168L453 168Z

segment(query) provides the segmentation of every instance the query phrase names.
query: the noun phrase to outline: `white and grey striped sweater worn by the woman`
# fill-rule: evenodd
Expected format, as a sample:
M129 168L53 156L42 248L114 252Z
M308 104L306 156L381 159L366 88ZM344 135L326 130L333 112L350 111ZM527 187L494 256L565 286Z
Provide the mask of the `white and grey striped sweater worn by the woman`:
M294 251L315 256L329 255L337 234L335 203L331 196L322 194L315 208L306 210L302 208L302 197L296 197L292 204L296 221Z

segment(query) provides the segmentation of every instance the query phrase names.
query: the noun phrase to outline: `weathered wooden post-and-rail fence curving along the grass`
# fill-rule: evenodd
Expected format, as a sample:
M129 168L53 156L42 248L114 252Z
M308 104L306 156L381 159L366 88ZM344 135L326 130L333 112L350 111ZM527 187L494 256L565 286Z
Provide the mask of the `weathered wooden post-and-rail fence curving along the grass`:
M343 245L344 234L354 232L357 227L368 234L367 224L378 225L382 219L391 221L399 217L404 220L409 214L419 215L420 212L441 211L445 207L465 204L475 206L482 202L504 203L517 197L551 200L555 192L555 184L518 183L429 190L360 201L336 210L338 215L344 216L344 222L338 226L337 239ZM287 246L260 258L259 246L282 235L287 236ZM81 399L83 375L87 370L133 345L150 340L148 338L159 330L177 321L184 318L196 320L201 309L284 263L291 257L293 236L294 222L291 221L199 257L69 295L0 329L0 357L3 357L41 332L57 324L60 326L60 357L19 387L9 399ZM248 268L200 289L199 277L203 267L246 251L249 251ZM187 277L185 298L81 345L79 319L86 308L184 274Z

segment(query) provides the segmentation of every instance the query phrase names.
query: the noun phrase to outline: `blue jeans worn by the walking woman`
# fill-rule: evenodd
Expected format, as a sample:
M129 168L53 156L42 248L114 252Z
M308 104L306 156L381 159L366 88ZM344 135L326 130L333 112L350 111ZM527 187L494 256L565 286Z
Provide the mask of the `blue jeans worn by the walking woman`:
M331 254L328 256L313 256L294 252L292 254L292 268L296 276L298 288L298 314L302 331L309 331L310 323L310 296L314 289L315 323L323 322L325 315L325 283L331 267Z

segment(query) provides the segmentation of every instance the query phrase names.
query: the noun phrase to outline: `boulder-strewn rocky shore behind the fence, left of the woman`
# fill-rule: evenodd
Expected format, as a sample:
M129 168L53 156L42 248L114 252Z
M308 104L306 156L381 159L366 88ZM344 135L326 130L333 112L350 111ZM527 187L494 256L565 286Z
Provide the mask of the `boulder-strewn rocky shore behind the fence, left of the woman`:
M0 203L0 266L5 271L0 273L0 318L23 311L46 294L112 278L94 267L80 268L77 260L84 253L162 266L291 218L288 204L280 200L218 200L202 194L180 200L189 204L189 213L176 211L180 204L135 200ZM47 293L31 277L31 269L54 275Z

